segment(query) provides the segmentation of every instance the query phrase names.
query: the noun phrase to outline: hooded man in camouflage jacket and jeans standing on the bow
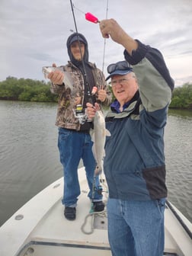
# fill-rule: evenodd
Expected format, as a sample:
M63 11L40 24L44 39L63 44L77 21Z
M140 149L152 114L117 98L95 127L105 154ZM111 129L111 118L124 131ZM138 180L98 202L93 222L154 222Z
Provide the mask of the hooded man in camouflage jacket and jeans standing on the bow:
M88 120L85 120L85 123L79 122L75 116L75 107L81 104L85 110L86 103L90 101L93 104L96 101L110 104L111 94L107 91L104 74L95 64L88 61L88 43L85 37L74 33L69 36L66 46L70 61L66 66L60 67L64 72L56 70L51 72L48 78L52 82L51 91L59 94L56 126L59 127L58 147L64 176L64 216L73 220L76 216L78 196L81 193L78 182L78 164L81 158L90 190L88 197L93 201L94 211L104 210L102 195L97 190L100 186L98 177L93 184L96 162L89 134L93 123ZM66 74L69 75L70 86L65 84ZM93 88L97 88L97 92L91 95Z

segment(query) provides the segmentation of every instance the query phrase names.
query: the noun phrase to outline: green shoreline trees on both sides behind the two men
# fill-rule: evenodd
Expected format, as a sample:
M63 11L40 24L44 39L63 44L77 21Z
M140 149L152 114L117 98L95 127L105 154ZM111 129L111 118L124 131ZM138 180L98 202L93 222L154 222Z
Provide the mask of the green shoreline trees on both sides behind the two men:
M50 82L8 76L0 82L0 100L57 102L58 96L50 92ZM192 83L174 88L169 108L192 110Z

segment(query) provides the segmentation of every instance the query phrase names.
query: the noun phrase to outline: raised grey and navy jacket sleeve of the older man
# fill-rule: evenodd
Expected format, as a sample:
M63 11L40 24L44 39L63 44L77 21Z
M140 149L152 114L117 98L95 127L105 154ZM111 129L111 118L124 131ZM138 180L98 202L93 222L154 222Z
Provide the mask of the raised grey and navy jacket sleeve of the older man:
M171 102L174 81L162 53L139 40L137 42L138 48L133 51L132 56L124 51L125 59L133 66L143 106L149 112L160 110Z

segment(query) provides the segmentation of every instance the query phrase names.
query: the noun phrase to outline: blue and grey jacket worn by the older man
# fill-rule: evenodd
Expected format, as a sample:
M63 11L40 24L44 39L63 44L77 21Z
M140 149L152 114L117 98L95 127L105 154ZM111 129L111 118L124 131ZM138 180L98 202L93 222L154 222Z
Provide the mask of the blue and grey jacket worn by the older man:
M139 42L130 56L139 84L121 113L111 104L106 117L104 173L110 198L152 200L167 197L164 129L174 82L162 54Z

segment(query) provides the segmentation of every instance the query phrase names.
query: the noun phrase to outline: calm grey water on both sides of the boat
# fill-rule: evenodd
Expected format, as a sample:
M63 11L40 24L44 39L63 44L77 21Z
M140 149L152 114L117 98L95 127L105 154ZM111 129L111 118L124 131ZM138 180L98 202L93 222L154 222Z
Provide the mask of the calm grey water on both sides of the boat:
M62 177L56 104L0 101L0 226ZM173 111L165 130L168 199L192 221L192 111Z

